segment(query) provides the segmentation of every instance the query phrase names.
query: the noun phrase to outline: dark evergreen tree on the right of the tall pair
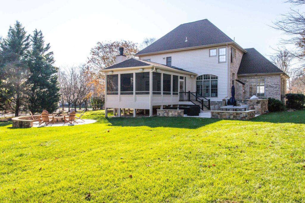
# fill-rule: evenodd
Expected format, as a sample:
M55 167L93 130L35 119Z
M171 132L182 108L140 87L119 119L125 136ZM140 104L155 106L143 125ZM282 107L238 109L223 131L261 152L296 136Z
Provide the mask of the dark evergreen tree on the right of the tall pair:
M53 52L48 52L50 44L45 45L41 31L35 30L31 37L32 50L28 59L31 76L28 84L30 93L28 107L32 112L43 109L53 112L59 102L58 69L53 65Z

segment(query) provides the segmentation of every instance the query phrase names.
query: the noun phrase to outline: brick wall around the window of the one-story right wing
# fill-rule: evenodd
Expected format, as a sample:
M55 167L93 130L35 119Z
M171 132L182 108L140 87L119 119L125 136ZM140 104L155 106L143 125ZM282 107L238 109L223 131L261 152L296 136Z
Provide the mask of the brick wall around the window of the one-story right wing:
M249 99L253 95L249 95L249 78L265 78L265 95L264 98L275 98L281 100L281 76L280 75L264 75L264 76L239 76L238 80L245 83L245 99ZM240 98L237 97L236 98ZM243 99L243 98L241 98Z

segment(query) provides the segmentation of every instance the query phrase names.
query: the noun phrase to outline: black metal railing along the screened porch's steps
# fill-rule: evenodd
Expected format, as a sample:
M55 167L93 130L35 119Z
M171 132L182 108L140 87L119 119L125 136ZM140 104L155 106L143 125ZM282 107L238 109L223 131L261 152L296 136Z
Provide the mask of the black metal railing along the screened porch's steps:
M179 101L192 102L195 105L199 105L202 110L204 106L210 110L210 99L203 97L198 92L179 92Z

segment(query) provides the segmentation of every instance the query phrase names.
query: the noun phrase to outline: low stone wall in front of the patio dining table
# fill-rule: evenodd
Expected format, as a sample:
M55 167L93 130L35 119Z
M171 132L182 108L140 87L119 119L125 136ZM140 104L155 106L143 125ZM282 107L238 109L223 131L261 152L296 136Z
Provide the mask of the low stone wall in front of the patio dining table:
M233 120L250 120L255 117L254 110L248 111L211 111L211 118L216 119L233 119Z

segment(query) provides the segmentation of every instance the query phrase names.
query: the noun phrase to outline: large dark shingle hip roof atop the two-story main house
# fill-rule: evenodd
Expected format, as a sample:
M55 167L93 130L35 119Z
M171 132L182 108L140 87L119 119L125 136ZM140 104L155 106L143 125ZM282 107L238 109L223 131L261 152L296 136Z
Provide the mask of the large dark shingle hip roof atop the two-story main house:
M188 39L187 42L185 42L186 37ZM204 19L179 25L136 55L232 41L230 37L219 30L213 23Z

